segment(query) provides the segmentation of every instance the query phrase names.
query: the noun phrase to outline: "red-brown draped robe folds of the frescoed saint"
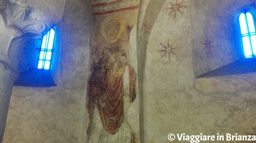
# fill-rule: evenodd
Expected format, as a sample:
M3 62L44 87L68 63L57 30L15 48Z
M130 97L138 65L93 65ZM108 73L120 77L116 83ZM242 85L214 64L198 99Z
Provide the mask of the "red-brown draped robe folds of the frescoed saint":
M134 69L129 67L130 103L136 97L136 75ZM90 76L89 94L87 97L89 126L87 135L92 126L94 105L98 106L100 120L107 132L114 135L124 120L124 82L123 75L113 77L112 84L109 82L107 71L94 71ZM135 135L131 134L131 143L135 142Z

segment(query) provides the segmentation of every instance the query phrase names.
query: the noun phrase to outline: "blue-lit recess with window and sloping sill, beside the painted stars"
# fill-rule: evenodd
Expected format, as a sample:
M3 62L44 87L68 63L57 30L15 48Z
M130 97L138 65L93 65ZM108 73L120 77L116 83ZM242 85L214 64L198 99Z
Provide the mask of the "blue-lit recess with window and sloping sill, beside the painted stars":
M234 28L234 33L237 33L237 36L232 36L234 41L239 37L237 43L241 49L237 49L239 53L236 53L236 58L239 59L196 78L256 73L256 11L255 8L248 7L247 10L240 12L238 18L235 17L237 22L234 26L237 28Z

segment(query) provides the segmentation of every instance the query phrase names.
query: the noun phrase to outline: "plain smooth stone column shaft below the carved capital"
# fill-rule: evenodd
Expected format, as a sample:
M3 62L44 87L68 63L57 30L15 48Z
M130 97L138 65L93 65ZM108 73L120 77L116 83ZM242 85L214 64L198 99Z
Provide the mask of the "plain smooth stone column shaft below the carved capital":
M6 62L0 61L0 143L2 143L4 137L13 83L18 75L19 73L8 66Z

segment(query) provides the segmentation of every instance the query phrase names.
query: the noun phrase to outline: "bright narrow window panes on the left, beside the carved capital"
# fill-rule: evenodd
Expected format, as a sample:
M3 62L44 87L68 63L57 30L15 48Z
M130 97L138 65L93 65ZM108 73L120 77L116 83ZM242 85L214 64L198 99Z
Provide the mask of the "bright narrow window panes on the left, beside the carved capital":
M37 66L39 69L50 68L54 35L55 32L53 29L51 29L43 38Z

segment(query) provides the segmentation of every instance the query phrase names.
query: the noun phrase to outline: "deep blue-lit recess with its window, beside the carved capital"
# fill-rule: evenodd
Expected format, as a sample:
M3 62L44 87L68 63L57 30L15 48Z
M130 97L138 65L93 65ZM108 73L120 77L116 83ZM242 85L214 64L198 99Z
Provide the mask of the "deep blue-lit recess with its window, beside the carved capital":
M60 64L60 26L52 27L43 39L30 39L23 45L17 70L19 78L14 85L29 87L56 86ZM55 78L56 79L56 78Z

